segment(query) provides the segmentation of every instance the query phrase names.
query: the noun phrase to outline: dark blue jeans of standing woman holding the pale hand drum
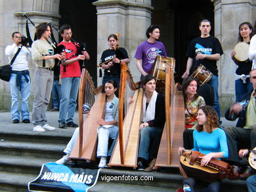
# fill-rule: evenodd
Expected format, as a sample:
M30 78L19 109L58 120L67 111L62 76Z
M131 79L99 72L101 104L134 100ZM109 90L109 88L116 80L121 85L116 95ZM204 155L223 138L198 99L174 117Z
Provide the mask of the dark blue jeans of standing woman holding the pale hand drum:
M246 83L243 83L242 79L237 79L235 81L236 87L236 102L239 101L240 96L246 92L253 91L253 84L250 82L249 78L246 79Z

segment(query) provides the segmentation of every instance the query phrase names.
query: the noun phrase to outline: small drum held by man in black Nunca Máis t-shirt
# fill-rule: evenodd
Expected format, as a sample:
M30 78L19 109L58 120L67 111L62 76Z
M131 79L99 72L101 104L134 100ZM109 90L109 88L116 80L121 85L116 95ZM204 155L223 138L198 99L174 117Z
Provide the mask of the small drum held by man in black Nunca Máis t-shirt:
M196 77L199 80L199 84L204 85L210 81L211 77L213 77L213 73L207 70L205 66L200 64L196 70L192 73L192 77Z

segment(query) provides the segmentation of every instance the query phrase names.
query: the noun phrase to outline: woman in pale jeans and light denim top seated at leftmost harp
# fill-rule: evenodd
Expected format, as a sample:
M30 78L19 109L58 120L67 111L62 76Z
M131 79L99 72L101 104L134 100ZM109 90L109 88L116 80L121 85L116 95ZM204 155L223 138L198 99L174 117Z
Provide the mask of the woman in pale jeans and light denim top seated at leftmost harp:
M106 157L112 155L112 149L114 143L108 151L108 140L109 138L114 139L118 132L117 119L118 119L118 104L119 100L115 95L117 90L117 83L114 80L109 80L105 84L106 91L106 104L105 104L105 116L104 119L98 119L98 147L97 147L97 157L100 158L99 168L106 167ZM88 114L89 115L89 114ZM64 164L70 158L70 153L75 145L79 134L79 127L75 129L75 132L68 143L66 149L64 149L64 157L56 161L57 164Z

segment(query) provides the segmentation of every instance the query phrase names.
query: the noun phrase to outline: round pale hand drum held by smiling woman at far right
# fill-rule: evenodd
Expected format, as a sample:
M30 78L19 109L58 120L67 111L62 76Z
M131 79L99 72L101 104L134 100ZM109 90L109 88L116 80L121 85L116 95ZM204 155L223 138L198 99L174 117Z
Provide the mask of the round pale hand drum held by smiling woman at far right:
M245 62L249 59L249 44L245 42L240 42L236 44L236 47L234 48L234 51L236 54L234 55L234 58L240 62Z

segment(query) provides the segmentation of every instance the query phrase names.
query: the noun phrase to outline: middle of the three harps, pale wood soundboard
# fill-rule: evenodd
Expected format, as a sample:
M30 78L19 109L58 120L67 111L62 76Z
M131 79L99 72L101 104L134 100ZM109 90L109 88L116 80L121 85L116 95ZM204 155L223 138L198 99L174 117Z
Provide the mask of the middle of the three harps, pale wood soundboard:
M119 86L119 136L109 166L137 167L141 107L142 88L133 82L129 67L122 63Z

